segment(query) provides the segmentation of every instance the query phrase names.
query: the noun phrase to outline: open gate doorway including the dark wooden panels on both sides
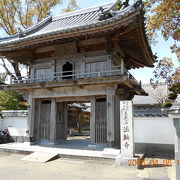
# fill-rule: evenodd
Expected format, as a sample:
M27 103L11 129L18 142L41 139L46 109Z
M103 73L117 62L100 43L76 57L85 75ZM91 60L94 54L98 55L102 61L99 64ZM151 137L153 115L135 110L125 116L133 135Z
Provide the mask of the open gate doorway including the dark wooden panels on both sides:
M36 100L35 104L35 142L69 147L107 143L106 98L81 102Z

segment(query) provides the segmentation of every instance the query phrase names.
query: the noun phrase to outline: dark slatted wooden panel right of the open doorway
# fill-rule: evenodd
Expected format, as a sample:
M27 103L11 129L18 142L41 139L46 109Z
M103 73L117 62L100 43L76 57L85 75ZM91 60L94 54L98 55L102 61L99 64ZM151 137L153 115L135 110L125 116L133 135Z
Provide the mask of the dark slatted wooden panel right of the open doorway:
M107 142L107 106L106 99L96 99L95 110L95 143Z

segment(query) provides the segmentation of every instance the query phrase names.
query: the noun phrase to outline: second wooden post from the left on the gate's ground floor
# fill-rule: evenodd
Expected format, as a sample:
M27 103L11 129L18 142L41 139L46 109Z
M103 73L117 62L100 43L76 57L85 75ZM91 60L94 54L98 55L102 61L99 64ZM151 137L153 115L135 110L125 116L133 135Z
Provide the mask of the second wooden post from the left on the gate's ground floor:
M55 142L56 141L56 112L57 112L57 106L56 106L56 100L51 100L51 119L50 119L50 141Z

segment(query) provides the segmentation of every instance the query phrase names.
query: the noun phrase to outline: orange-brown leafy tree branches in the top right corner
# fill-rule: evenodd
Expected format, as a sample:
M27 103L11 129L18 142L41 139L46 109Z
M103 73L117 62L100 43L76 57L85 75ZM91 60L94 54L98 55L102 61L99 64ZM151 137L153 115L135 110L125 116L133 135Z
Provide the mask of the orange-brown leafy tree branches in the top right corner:
M147 11L147 30L153 36L161 31L165 40L173 38L175 42L180 40L179 0L145 0ZM180 52L178 46L172 47L175 52Z

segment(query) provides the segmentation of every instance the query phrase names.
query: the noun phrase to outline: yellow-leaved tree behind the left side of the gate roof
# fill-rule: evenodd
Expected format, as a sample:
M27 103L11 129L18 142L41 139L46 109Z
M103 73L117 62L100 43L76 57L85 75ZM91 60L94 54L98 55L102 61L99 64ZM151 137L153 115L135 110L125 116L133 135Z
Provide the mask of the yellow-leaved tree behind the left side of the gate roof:
M0 1L0 29L7 35L14 35L21 29L27 29L44 19L63 0L2 0ZM76 1L70 0L69 11L77 8ZM21 77L20 64L11 59L1 58L1 65L8 75L12 74L11 65L15 76Z

